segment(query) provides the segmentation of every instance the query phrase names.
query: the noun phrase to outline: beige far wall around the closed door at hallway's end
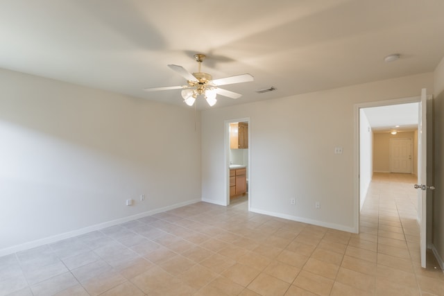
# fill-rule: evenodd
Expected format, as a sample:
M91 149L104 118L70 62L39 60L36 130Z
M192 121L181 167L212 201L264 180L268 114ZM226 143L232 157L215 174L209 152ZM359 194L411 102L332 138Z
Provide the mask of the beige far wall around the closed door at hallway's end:
M417 132L375 132L373 134L373 171L379 173L390 173L390 140L411 139L412 143L412 166L411 173L418 174L418 134ZM416 159L416 162L415 162Z

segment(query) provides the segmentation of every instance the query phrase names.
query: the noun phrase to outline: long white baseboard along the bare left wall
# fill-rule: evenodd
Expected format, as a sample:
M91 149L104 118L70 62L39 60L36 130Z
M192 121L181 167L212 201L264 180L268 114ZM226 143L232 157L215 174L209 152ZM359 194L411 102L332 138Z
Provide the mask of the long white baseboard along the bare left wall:
M136 214L133 216L128 216L128 217L124 217L124 218L119 218L116 220L111 220L108 222L104 222L104 223L99 223L96 225L91 225L85 228L81 228L81 229L76 229L72 232L65 232L62 234L56 234L55 236L49 236L46 238L41 238L35 241L30 241L28 243L22 243L20 245L13 245L12 247L6 247L4 249L0 250L0 257L1 256L6 256L9 254L13 254L15 252L20 252L20 251L24 251L24 250L28 250L28 249L32 249L33 247L40 247L41 245L46 245L49 243L55 243L56 241L61 241L63 239L67 239L67 238L71 238L74 236L79 236L82 234L87 234L88 232L94 232L96 230L100 230L106 227L110 227L110 226L114 226L114 225L118 225L121 223L125 223L131 220L137 220L139 218L144 218L146 216L151 216L157 213L162 213L163 211L169 211L171 209L177 209L178 207L184 207L187 206L189 204L194 204L196 202L200 202L201 200L188 200L186 202L180 202L178 204L171 204L170 206L167 207L161 207L159 209L153 209L152 211L145 211L143 213L140 214Z

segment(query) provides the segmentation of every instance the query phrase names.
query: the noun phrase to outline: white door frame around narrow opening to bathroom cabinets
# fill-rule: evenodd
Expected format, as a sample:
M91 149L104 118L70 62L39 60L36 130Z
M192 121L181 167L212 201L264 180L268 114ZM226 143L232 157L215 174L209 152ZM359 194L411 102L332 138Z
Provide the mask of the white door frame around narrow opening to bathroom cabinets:
M224 141L224 151L225 155L223 157L224 162L224 175L225 175L225 204L230 204L230 123L234 122L247 122L248 123L248 168L247 168L247 180L248 180L248 211L251 209L251 198L253 192L253 186L251 186L251 120L250 117L244 117L239 119L228 119L224 121L225 128L225 141Z

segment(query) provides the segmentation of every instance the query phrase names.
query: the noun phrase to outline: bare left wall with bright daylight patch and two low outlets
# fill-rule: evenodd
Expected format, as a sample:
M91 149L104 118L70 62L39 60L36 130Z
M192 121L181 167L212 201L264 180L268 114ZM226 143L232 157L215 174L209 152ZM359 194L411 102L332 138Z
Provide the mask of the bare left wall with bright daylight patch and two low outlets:
M200 200L194 121L194 110L0 69L0 256Z

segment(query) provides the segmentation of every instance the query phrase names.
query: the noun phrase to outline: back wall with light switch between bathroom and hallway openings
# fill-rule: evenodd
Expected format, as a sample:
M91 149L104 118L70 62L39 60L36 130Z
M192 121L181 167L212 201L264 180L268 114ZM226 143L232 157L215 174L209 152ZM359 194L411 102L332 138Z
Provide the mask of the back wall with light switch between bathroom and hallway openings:
M432 89L433 73L203 111L203 199L225 199L224 121L250 117L251 209L356 232L354 105L418 96L422 87Z

